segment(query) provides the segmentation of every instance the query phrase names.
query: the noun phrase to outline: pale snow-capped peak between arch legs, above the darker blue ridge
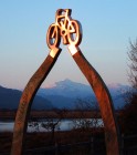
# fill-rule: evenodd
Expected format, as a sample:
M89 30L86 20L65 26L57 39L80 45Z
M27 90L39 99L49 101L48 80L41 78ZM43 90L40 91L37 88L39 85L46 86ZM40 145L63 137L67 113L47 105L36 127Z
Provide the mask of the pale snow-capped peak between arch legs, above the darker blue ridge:
M94 95L92 89L88 85L73 82L68 79L56 82L52 87L40 89L38 94L43 97L49 95L57 95L70 99L78 99L80 96L83 99Z

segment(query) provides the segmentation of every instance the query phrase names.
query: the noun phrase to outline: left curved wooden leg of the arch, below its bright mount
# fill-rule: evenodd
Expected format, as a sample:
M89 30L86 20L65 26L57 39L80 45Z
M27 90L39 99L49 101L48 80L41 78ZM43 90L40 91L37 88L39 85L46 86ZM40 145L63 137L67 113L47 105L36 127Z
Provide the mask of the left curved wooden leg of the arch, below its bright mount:
M54 65L61 50L56 53L54 58L50 54L38 69L34 75L30 79L27 84L17 112L14 130L13 130L13 141L11 147L11 155L21 155L23 151L23 141L28 126L28 116L31 110L33 97L40 87L41 83L45 80L52 66Z

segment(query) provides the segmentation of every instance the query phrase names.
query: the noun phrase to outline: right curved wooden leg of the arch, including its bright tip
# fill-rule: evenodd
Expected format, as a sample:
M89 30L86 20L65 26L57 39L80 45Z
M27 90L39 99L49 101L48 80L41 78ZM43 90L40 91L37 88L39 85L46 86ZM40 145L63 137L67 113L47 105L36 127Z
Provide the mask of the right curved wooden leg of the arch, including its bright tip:
M71 45L70 45L71 46ZM76 64L85 75L86 80L91 84L96 99L99 104L102 118L105 127L105 140L106 140L106 152L107 155L119 155L120 154L120 141L117 122L114 114L113 101L109 92L96 72L96 70L87 62L78 48L68 46L70 52L73 55Z

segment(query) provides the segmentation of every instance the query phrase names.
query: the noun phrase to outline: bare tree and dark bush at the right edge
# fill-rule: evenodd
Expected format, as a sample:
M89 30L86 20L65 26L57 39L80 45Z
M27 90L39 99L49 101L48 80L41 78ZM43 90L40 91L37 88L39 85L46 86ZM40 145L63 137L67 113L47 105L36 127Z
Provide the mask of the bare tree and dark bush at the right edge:
M122 132L125 134L136 134L137 132L137 40L135 43L130 42L128 51L129 72L128 80L131 89L126 95L126 106L123 110L120 117Z

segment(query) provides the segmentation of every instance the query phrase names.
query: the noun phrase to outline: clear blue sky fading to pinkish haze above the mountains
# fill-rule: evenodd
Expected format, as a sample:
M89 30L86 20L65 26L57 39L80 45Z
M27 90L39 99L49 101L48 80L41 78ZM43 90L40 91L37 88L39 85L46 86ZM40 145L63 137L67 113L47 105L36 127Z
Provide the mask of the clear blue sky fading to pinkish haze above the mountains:
M129 40L137 38L136 0L1 0L0 85L23 89L50 50L46 31L57 9L72 9L82 24L80 48L106 84L128 84ZM87 84L66 45L43 82L48 87L70 79Z

